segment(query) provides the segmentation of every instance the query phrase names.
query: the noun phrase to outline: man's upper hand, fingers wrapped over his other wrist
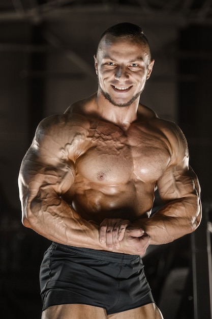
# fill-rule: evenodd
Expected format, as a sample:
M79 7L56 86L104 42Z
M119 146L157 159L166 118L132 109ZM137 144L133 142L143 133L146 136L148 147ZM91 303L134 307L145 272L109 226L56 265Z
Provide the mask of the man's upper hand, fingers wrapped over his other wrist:
M120 241L123 240L126 228L131 224L129 220L119 218L106 218L99 227L99 241L106 244L109 250L119 249Z

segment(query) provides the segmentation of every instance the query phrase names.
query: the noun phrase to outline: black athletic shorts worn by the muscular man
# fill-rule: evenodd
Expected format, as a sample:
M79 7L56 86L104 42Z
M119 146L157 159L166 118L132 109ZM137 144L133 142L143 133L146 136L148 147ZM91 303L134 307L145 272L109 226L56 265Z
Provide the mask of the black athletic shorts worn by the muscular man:
M86 304L122 312L154 302L139 255L52 243L40 270L43 310Z

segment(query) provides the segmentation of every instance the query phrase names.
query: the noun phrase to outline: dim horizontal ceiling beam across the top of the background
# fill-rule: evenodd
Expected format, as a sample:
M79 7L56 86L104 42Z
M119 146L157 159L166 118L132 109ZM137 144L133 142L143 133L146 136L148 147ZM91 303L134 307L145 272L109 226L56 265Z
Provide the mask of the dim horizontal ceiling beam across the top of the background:
M212 24L212 4L211 0L203 0L201 7L193 9L194 0L171 0L159 8L155 8L150 0L138 0L138 6L130 3L120 5L118 2L111 3L101 1L99 4L79 4L75 0L53 0L42 5L35 5L31 8L24 8L20 0L12 0L15 10L0 12L0 23L7 21L29 21L31 23L40 23L41 21L74 21L79 19L94 19L94 21L107 21L110 16L126 15L126 19L133 15L140 17L144 22L157 23L201 23ZM67 5L67 6L65 6ZM65 6L65 7L64 7ZM80 16L80 17L79 17Z

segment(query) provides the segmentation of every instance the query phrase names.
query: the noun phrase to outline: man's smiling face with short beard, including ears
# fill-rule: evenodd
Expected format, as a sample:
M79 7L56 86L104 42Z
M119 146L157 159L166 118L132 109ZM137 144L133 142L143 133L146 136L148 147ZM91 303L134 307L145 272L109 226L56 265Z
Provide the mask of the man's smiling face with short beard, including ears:
M139 101L154 60L150 61L145 44L105 36L95 59L99 92L118 107Z

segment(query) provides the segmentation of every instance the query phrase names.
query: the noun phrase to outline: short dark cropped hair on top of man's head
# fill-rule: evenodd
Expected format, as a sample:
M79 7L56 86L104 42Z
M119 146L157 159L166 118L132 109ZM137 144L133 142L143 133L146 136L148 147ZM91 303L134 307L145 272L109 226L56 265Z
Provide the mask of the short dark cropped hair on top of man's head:
M143 44L145 44L149 50L149 56L151 59L150 47L148 40L143 33L142 28L139 25L130 23L130 22L122 22L110 26L101 36L100 41L106 35L111 35L112 37L118 37L122 39L137 39L140 40Z

